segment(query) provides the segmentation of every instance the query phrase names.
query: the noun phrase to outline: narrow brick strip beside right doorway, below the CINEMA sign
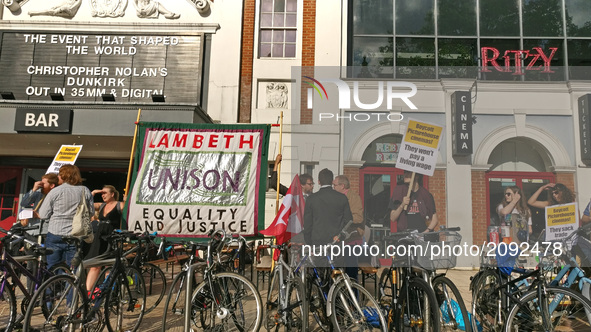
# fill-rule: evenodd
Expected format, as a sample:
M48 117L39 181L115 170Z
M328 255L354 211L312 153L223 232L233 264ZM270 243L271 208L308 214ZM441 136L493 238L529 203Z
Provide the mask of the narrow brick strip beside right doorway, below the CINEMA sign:
M486 241L486 178L484 171L472 171L472 236L474 243Z

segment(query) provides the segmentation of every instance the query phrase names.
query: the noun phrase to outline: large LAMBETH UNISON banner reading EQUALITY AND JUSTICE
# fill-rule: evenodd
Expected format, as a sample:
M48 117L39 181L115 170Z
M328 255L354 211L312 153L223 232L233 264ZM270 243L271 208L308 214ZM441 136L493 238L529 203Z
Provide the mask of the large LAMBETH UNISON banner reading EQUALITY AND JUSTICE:
M127 228L169 237L264 228L269 125L140 123Z

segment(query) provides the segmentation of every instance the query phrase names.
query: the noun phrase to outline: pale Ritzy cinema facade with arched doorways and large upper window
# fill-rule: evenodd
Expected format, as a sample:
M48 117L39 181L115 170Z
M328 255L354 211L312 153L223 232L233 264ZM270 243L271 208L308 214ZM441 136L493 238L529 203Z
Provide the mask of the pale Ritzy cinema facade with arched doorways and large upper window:
M426 185L439 219L461 226L468 243L487 239L506 186L531 195L564 183L583 211L591 198L585 1L302 0L290 29L268 16L280 2L253 4L258 30L243 47L254 50L247 91L256 98L241 100L249 108L239 112L252 122L288 114L282 178L316 179L325 167L346 174L366 221L382 223L401 180L399 143L415 119L445 126ZM288 43L268 30L296 34L296 51L280 52ZM288 106L276 103L277 86L290 90ZM543 213L534 211L535 232Z

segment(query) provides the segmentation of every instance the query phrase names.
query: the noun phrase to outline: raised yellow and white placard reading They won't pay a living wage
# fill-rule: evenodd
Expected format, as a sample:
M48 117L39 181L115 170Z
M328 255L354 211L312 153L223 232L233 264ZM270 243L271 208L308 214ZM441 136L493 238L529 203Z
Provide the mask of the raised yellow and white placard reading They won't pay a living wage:
M409 120L398 150L396 168L432 176L442 135L443 126Z

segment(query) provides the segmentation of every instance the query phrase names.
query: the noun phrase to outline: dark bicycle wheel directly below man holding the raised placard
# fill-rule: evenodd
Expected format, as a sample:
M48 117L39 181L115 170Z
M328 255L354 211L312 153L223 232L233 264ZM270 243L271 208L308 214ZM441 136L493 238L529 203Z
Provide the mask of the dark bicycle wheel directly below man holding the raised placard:
M402 286L394 316L396 331L441 331L435 292L422 279L413 278Z

